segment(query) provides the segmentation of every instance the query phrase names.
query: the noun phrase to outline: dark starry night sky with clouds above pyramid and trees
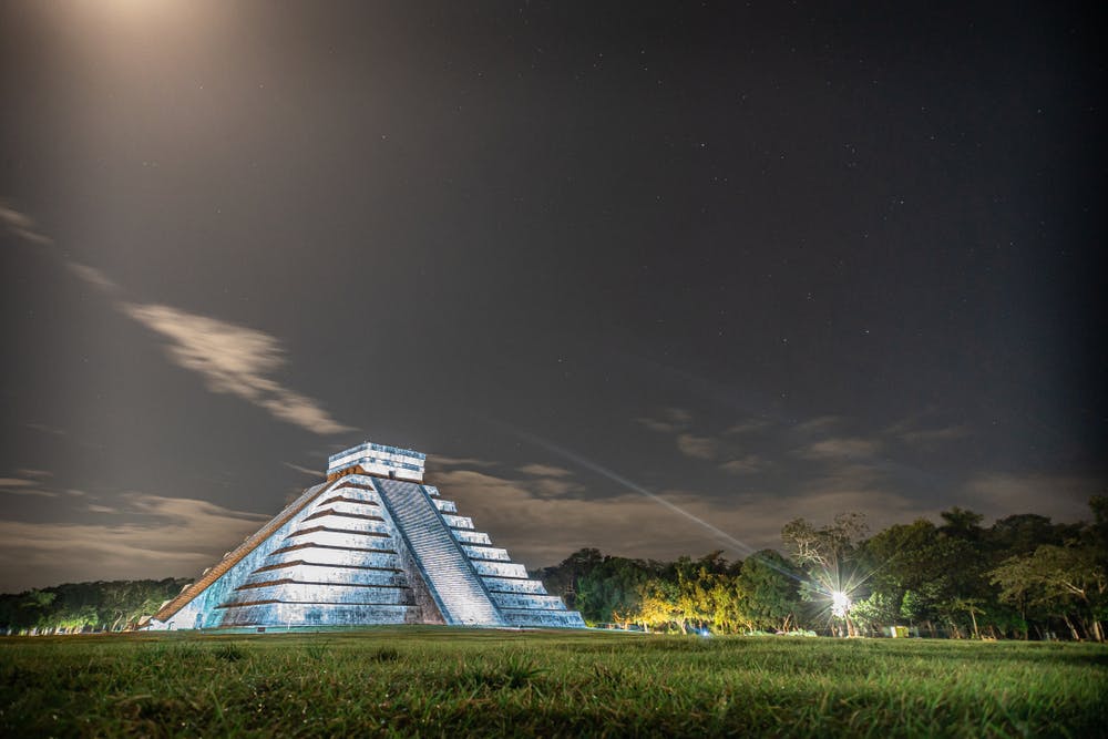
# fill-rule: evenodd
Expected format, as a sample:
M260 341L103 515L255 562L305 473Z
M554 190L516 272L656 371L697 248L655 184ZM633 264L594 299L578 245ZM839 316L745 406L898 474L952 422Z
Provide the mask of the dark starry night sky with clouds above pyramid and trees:
M0 591L367 439L533 567L1087 517L1105 19L967 4L3 3Z

